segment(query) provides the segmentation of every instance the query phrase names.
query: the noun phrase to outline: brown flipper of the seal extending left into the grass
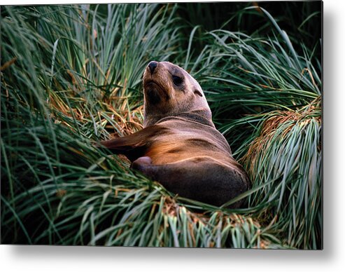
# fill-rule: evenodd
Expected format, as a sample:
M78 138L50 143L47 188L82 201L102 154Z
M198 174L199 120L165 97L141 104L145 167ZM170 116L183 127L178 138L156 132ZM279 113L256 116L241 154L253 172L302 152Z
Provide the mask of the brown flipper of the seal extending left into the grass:
M130 161L135 161L136 158L143 156L155 136L164 132L166 132L166 129L160 125L150 125L125 137L101 141L99 145L110 149L114 154L124 154Z

